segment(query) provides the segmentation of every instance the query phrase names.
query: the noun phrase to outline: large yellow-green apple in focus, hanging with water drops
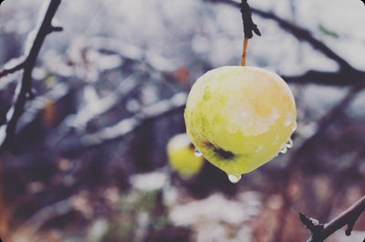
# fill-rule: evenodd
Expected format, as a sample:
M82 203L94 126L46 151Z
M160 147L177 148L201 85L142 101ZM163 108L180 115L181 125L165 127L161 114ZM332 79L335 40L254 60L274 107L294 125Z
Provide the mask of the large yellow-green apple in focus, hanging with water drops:
M249 173L273 159L296 129L287 83L263 68L214 68L196 80L184 110L186 132L226 174Z

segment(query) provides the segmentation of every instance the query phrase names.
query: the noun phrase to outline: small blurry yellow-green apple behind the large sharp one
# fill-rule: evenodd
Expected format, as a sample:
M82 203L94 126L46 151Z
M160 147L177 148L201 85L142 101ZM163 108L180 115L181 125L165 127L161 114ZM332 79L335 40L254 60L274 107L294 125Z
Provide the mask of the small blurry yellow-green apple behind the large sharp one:
M167 143L167 156L173 171L190 178L203 168L204 158L195 153L193 143L186 133L173 136Z

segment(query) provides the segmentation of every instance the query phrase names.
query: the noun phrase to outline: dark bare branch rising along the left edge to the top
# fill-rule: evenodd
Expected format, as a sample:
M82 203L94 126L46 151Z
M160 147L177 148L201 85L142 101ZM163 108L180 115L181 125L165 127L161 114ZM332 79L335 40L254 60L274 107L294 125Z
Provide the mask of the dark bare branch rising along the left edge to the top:
M62 30L61 27L52 26L51 24L60 3L61 0L51 0L49 2L47 12L43 17L43 21L36 32L36 38L34 39L33 45L27 53L26 59L23 63L20 63L15 68L12 68L10 72L9 70L7 70L7 73L11 73L11 71L14 72L20 68L23 68L24 72L21 81L18 82L18 87L15 94L16 100L6 114L5 127L0 127L0 136L3 136L0 137L0 150L7 149L13 144L16 133L16 123L24 112L26 100L29 100L34 96L32 92L32 71L36 65L36 58L39 54L40 48L42 47L45 38L53 31Z

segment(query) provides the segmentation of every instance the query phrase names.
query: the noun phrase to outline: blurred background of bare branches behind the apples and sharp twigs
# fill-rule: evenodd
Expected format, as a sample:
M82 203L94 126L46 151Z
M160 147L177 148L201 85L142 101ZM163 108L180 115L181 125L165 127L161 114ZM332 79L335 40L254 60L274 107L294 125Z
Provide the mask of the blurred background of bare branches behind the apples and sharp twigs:
M306 241L299 212L325 223L364 195L365 5L249 4L262 37L249 41L246 65L293 90L293 148L237 184L208 162L189 178L168 163L195 79L240 63L236 2L62 1L53 24L63 31L46 37L35 98L0 153L3 241ZM45 5L0 5L0 67L32 45ZM2 127L22 74L0 79ZM328 241L362 241L365 217L350 237L344 229Z

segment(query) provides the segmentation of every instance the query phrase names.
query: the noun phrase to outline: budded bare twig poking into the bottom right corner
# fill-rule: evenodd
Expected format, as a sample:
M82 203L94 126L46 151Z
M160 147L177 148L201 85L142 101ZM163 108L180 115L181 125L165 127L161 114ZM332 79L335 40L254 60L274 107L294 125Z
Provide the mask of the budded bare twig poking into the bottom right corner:
M342 214L335 217L325 225L319 224L316 219L308 218L303 214L300 214L300 220L312 233L312 237L308 239L308 242L322 242L341 227L346 225L348 228L345 233L349 236L353 226L363 212L365 212L365 195L362 196L358 202L351 205Z

